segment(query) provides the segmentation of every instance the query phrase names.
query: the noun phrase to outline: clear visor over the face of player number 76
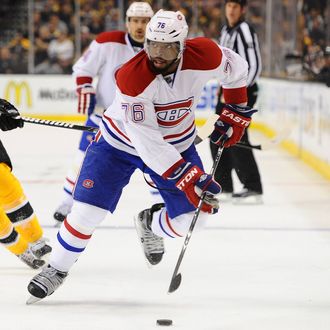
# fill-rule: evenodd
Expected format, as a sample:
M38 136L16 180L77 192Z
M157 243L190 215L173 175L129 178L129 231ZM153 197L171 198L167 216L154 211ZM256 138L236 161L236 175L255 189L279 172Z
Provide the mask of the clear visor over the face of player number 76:
M158 42L147 40L147 53L151 58L162 58L166 61L175 60L180 52L178 42Z

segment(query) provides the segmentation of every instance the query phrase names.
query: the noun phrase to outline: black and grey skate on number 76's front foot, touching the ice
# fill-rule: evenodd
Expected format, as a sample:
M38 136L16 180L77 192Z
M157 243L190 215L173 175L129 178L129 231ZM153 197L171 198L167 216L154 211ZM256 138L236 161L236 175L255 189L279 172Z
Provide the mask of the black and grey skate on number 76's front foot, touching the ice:
M62 285L67 275L67 272L61 272L48 265L30 281L28 291L31 297L27 300L27 305L53 294Z

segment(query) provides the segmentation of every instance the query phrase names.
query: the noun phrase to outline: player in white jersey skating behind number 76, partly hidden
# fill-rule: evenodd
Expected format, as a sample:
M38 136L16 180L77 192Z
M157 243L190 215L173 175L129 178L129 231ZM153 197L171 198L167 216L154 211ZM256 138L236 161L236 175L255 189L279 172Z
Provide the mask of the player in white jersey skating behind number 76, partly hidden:
M73 66L78 95L78 112L86 114L87 126L98 127L103 111L115 96L115 71L143 48L146 25L153 16L147 2L133 2L126 12L127 32L111 31L99 34L83 56ZM96 89L93 80L98 77ZM94 134L82 134L79 149L65 181L63 199L54 213L57 222L63 222L70 212L72 191L84 153Z

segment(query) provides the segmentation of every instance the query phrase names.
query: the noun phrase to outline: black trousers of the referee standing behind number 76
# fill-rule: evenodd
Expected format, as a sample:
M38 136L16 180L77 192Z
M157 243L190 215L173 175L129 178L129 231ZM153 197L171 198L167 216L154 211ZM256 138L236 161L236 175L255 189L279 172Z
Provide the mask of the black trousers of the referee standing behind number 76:
M248 106L253 107L258 96L258 85L253 84L248 87L247 93ZM221 105L223 104L219 101L216 107L217 113L220 112L222 108ZM241 142L250 143L248 128L245 130ZM210 142L210 148L212 158L214 160L218 151L218 146ZM244 188L262 193L260 173L252 149L233 146L223 150L220 163L214 176L215 180L221 185L223 192L232 193L234 190L231 176L231 171L233 169L236 171L236 174Z

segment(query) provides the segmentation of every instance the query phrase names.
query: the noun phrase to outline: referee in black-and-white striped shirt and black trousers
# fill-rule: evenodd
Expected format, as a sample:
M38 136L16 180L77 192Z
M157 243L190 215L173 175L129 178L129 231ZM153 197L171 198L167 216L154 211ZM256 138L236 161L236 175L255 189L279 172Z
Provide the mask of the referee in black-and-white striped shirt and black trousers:
M245 21L246 0L225 0L226 25L221 30L220 45L230 48L242 56L249 64L247 80L248 106L253 107L258 96L257 79L261 72L261 56L257 35L254 29ZM216 112L222 109L222 92L219 92L219 101ZM248 129L245 130L242 142L249 143ZM210 144L213 159L218 147ZM235 170L243 190L234 193L232 170ZM262 202L262 184L259 169L250 149L240 147L226 148L217 168L215 179L223 189L222 198L233 200L233 203Z

